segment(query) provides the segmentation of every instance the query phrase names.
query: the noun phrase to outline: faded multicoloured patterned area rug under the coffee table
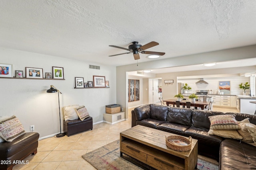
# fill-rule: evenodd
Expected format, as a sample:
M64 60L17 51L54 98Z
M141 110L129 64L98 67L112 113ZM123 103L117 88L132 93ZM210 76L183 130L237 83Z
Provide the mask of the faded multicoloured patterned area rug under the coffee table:
M98 170L142 170L139 166L130 161L120 157L120 141L116 140L108 145L100 147L92 152L84 154L82 157L92 164ZM126 154L123 154L127 156ZM129 157L129 156L127 156ZM131 158L131 157L129 157ZM154 168L133 159L136 163L145 166L148 170L155 170ZM198 170L218 170L218 165L207 162L198 158Z

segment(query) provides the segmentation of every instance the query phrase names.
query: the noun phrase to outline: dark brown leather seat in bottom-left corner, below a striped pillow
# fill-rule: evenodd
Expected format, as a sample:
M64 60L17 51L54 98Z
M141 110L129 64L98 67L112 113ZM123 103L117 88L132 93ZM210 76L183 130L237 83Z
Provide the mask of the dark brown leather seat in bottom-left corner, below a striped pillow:
M39 133L27 132L12 142L0 143L0 170L12 170L15 164L22 162L30 154L37 153Z

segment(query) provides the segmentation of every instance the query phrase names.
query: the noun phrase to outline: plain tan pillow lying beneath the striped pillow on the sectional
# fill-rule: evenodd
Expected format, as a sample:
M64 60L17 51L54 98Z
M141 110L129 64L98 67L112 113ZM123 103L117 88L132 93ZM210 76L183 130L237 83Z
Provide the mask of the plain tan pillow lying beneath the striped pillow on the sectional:
M244 139L242 135L238 133L237 130L214 130L210 129L208 131L208 135L216 135L224 138L231 138L231 139Z

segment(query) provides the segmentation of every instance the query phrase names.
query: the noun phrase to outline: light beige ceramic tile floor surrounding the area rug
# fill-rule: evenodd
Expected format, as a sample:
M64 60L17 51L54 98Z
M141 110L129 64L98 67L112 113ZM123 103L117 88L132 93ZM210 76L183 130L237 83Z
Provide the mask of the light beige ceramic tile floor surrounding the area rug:
M95 170L82 158L83 154L102 147L120 138L120 132L131 127L131 110L129 119L113 125L98 123L93 130L88 130L70 137L50 137L38 141L38 152L26 160L29 164L17 164L13 170ZM214 107L214 111L237 112L236 109Z

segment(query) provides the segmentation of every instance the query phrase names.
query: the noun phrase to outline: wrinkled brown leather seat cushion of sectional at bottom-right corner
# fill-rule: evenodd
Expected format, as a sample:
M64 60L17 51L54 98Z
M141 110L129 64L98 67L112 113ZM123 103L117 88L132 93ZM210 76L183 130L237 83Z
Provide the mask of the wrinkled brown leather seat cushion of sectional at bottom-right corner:
M220 145L220 169L256 169L255 153L256 147L252 145L234 139L225 139Z

